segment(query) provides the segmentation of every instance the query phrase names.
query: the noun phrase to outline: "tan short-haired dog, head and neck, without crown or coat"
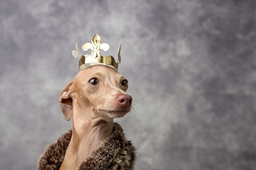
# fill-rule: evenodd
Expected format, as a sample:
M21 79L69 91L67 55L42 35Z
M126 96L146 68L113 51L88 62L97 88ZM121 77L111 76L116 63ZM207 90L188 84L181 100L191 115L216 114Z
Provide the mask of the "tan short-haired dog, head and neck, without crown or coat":
M72 114L72 138L60 170L77 170L100 142L112 134L113 119L131 109L128 81L115 68L95 65L80 71L61 92L67 120Z

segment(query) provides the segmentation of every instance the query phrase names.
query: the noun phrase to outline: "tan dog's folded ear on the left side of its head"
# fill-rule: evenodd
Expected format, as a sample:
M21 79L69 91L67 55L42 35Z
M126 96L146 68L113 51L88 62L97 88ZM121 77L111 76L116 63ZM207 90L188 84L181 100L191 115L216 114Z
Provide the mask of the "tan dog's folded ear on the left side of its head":
M72 97L70 94L72 93L73 81L69 82L65 88L61 91L60 99L61 102L61 110L67 121L70 120L72 114Z

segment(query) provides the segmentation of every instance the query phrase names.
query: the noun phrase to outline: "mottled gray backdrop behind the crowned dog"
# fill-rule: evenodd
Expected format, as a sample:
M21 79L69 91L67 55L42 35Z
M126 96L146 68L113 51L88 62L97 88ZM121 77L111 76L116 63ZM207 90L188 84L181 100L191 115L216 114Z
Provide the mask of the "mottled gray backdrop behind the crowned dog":
M35 170L71 128L59 93L95 33L101 55L122 42L136 170L255 170L255 0L1 0L0 170Z

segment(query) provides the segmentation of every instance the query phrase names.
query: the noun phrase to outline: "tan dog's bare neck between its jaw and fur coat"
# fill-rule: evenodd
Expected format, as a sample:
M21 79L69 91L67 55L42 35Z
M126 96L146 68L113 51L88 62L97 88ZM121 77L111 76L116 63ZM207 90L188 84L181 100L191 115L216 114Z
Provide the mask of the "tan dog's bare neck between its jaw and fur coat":
M78 169L79 165L85 161L94 150L99 148L101 141L110 136L114 130L113 119L108 118L108 120L104 120L102 117L88 117L90 114L84 111L84 114L82 114L83 117L76 117L76 115L81 115L75 113L79 111L81 113L81 110L73 108L72 138L61 169L65 169L64 167Z

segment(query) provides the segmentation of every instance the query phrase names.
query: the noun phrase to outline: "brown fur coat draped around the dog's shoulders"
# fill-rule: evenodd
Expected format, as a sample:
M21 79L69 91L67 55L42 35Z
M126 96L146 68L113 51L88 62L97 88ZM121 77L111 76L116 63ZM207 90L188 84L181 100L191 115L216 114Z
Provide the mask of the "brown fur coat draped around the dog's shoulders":
M58 170L64 159L72 130L61 135L49 145L38 162L38 170ZM114 132L107 137L92 155L81 163L79 170L132 170L135 163L135 148L125 139L123 129L114 124Z

